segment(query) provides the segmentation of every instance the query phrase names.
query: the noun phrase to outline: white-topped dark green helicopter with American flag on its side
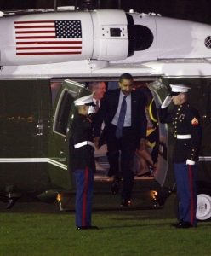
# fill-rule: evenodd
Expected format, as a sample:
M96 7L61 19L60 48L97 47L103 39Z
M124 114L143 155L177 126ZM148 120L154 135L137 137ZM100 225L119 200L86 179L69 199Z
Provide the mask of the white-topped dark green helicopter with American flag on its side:
M112 90L122 73L130 73L134 84L151 91L157 108L169 84L191 87L190 102L203 130L197 218L211 218L210 29L133 9L100 9L96 0L1 12L0 200L7 208L16 201L58 200L64 210L62 196L75 189L69 168L70 127L77 115L73 102L92 93L88 82L105 81ZM173 127L157 121L157 172L134 179L134 207L140 207L145 192L153 208L163 207L175 189ZM110 185L105 172L94 174L94 192L108 193Z

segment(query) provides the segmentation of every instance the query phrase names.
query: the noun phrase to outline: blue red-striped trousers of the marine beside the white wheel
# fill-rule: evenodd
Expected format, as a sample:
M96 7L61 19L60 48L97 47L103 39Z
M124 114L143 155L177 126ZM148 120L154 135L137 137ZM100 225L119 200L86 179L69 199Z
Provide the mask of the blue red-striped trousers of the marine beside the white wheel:
M197 227L197 165L174 163L174 172L180 198L180 221Z

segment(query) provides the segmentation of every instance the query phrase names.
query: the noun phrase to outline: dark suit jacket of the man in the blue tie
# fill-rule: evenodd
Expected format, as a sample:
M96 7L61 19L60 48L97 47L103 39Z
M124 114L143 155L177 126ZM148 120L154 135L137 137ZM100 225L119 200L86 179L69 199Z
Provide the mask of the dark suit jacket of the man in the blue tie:
M103 136L111 125L112 119L115 116L118 108L120 96L120 89L108 90L104 94L100 102L100 108L98 113L94 118L94 137L100 137L101 125L105 121L105 128L103 131ZM145 118L145 95L140 91L131 91L131 127L133 132L137 137L146 137L146 118ZM102 136L102 135L101 135Z

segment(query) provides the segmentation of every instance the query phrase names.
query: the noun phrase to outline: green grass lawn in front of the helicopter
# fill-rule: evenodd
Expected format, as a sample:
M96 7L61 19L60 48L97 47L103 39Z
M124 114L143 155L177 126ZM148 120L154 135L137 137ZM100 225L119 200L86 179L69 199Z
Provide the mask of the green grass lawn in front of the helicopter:
M112 195L111 195L112 196ZM57 203L0 203L0 255L210 255L210 222L178 230L174 195L161 210L98 211L93 225L76 230L75 213L59 212Z

